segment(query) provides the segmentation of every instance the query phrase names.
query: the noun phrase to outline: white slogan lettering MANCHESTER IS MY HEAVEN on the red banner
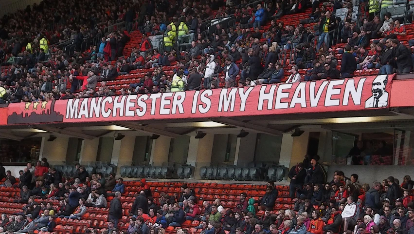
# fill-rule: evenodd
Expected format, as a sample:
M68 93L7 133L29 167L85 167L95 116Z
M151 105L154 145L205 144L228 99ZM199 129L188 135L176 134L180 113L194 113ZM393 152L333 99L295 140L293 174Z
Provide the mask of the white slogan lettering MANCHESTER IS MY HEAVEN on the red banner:
M190 92L174 92L143 95L124 95L70 99L66 102L66 119L99 117L144 117L174 115L188 117L190 114L223 116L223 113L264 110L287 110L330 106L358 106L371 91L368 78L281 83L267 86ZM365 90L364 90L365 89ZM365 93L364 93L365 92ZM371 94L371 92L369 92ZM193 96L193 97L191 97ZM187 100L185 100L187 98ZM191 105L191 107L190 107ZM306 112L308 109L306 109ZM220 113L220 114L217 114ZM266 114L268 114L267 112ZM284 113L284 112L281 112ZM292 113L292 111L288 111ZM275 113L278 114L278 113ZM241 114L243 115L243 114ZM173 117L173 118L174 118ZM199 117L199 116L198 116Z

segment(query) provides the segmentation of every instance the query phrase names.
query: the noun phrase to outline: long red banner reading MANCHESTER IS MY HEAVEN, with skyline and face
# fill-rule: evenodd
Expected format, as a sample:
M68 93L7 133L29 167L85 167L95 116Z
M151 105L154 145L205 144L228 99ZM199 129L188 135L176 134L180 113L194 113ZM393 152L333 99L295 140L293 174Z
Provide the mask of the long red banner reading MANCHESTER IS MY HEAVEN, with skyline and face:
M3 119L0 125L265 116L388 108L393 77L380 75L232 89L14 103L7 107L7 123Z

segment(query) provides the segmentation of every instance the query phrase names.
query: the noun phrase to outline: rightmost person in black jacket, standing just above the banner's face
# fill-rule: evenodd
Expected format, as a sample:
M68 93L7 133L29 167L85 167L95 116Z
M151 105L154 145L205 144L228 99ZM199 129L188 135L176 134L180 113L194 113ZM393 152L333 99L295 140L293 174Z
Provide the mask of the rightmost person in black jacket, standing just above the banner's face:
M393 57L396 60L397 72L408 73L413 70L413 59L411 59L411 52L405 45L399 43L398 39L391 39L393 46Z

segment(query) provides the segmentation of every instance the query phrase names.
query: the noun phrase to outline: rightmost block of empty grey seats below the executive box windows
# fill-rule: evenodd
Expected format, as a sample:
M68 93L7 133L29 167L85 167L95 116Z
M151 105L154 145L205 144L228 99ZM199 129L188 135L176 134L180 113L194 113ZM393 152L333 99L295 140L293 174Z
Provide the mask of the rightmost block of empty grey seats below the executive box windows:
M286 176L286 172L287 168L283 166L273 166L269 168L217 166L201 167L200 177L201 179L210 180L282 181Z

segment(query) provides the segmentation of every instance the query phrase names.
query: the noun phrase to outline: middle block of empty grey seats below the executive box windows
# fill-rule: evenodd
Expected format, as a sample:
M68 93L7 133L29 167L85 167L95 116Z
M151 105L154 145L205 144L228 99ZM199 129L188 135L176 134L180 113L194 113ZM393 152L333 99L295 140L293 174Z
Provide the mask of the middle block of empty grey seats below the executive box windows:
M177 168L171 168L168 166L121 166L120 175L122 177L129 178L178 178L184 179L192 176L194 167L192 166L179 166Z

